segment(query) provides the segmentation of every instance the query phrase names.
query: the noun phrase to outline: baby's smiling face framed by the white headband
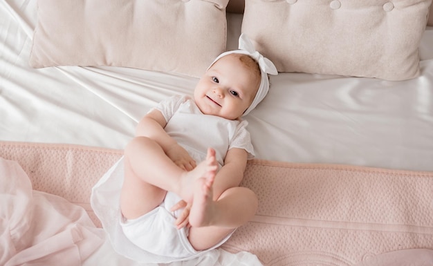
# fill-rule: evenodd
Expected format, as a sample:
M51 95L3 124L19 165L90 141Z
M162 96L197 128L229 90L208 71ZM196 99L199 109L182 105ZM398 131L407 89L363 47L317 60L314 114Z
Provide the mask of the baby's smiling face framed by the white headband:
M201 77L194 100L206 115L236 120L250 106L260 77L239 60L239 55L221 57Z

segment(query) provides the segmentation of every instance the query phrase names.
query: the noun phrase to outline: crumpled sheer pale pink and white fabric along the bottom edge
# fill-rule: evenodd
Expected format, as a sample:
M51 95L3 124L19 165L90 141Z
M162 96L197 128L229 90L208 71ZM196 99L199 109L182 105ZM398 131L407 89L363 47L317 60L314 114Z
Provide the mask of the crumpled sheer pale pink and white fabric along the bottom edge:
M0 265L147 265L124 258L86 211L62 197L32 189L15 161L0 158ZM248 252L215 249L172 266L261 265Z

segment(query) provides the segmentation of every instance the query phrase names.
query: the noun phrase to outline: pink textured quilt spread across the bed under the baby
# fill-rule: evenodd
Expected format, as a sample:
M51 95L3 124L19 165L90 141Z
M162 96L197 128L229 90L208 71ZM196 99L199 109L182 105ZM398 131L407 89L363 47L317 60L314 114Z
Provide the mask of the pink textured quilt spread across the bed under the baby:
M17 161L33 189L83 207L98 226L91 187L120 156L0 142L0 157ZM241 185L257 193L259 209L227 251L250 251L264 265L433 265L432 172L251 160Z

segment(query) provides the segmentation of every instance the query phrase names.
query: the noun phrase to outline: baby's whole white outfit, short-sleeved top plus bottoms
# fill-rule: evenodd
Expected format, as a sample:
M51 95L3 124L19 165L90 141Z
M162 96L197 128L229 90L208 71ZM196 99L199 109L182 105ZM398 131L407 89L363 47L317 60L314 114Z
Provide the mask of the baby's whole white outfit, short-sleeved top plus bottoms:
M249 159L254 156L246 121L204 115L194 101L185 96L170 97L160 102L156 109L163 113L167 121L165 131L197 163L205 159L208 147L215 149L220 167L227 151L232 148L245 149ZM123 171L122 158L95 184L91 195L93 210L109 234L114 249L128 258L146 263L170 263L203 253L190 244L186 227L177 229L174 225L182 209L169 211L181 200L172 192L168 192L160 206L149 213L133 220L122 217L119 202ZM229 237L215 247L222 245Z

